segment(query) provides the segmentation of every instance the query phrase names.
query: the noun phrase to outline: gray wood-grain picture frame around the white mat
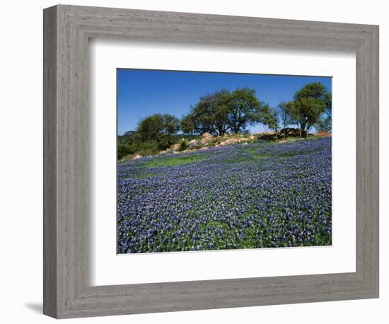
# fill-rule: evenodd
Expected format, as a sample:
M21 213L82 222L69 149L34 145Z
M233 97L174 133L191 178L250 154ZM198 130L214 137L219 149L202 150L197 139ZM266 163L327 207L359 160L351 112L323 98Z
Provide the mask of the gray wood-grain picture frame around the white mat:
M120 8L44 10L44 302L54 318L378 297L378 26ZM88 39L356 52L356 272L92 287Z

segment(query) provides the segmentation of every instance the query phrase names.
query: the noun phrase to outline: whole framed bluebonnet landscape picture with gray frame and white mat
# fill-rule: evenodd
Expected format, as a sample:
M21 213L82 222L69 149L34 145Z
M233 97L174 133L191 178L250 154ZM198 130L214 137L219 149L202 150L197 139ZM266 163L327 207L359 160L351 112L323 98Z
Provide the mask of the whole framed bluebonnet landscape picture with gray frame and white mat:
M378 297L378 26L44 11L44 313Z

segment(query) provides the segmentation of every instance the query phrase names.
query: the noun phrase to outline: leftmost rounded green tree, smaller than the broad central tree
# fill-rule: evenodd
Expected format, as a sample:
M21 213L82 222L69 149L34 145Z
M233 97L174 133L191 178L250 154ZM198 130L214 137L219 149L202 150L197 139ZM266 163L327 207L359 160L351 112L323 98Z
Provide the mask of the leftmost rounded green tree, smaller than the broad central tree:
M180 130L180 120L170 114L155 114L138 123L136 138L138 142L156 142L159 149L173 144L173 134Z

